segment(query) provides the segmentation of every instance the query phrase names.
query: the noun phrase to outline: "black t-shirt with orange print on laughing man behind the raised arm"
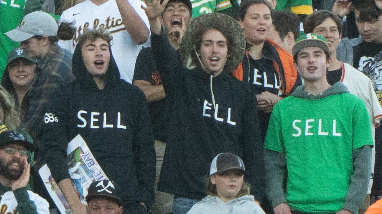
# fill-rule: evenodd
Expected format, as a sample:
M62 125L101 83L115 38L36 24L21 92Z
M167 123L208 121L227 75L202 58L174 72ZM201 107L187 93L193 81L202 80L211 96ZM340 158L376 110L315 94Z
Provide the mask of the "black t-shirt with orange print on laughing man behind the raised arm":
M133 82L135 80L144 80L151 83L151 85L162 85L162 79L155 67L151 47L143 48L138 54L135 62ZM166 140L166 102L166 98L164 98L147 103L155 139L159 141Z

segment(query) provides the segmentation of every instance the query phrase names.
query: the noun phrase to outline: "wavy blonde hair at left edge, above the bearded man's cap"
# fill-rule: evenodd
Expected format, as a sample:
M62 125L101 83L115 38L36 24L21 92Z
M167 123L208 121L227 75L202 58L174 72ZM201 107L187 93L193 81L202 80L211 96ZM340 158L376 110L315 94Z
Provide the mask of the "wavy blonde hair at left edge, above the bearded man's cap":
M15 99L0 86L0 107L3 110L4 125L11 130L16 130L20 125L19 113L16 111Z

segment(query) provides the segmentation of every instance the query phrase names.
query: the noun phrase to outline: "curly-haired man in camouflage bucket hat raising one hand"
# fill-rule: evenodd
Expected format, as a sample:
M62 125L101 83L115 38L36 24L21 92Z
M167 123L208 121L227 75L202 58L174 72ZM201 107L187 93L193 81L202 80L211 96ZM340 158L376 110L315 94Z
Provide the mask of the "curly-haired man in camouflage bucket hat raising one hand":
M167 2L147 2L145 8L171 112L158 190L174 194L173 213L185 214L206 196L202 178L212 159L231 152L242 157L251 193L261 201L264 164L256 102L249 88L231 75L244 54L240 26L219 13L195 18L180 47L183 67L160 25Z

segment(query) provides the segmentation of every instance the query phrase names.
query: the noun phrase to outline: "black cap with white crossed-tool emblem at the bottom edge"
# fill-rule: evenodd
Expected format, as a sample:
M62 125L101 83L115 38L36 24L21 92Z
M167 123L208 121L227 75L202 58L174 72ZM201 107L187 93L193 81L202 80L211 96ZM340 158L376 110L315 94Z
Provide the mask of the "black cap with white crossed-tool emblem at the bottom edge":
M89 203L94 198L105 198L122 206L120 195L120 188L117 184L111 180L99 180L90 184L85 199Z

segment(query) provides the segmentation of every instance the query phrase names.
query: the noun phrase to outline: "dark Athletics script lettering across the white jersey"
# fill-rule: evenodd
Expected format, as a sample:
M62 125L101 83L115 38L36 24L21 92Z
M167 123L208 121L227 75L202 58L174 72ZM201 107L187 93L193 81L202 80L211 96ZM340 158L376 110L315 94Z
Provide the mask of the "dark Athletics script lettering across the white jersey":
M119 27L119 26L123 26L123 27L120 27L118 29L113 30L114 28ZM110 18L110 16L108 16L102 24L100 24L99 19L94 19L93 28L98 29L100 27L109 30L109 32L111 34L117 33L121 30L125 30L125 26L122 23L122 19L115 19L114 17ZM76 33L73 35L73 43L72 43L73 48L74 48L74 46L76 46L76 43L78 42L79 35L82 34L84 32L84 29L87 29L87 28L90 28L89 22L85 22L83 24L83 26L80 25L77 27Z

